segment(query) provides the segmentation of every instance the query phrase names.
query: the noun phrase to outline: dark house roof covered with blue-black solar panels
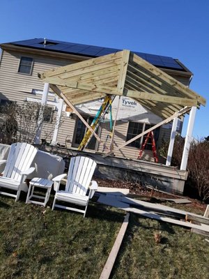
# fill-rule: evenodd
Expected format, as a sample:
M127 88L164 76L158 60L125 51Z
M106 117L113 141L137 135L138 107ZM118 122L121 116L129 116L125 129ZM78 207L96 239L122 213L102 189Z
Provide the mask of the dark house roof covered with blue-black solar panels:
M83 45L79 43L69 43L60 40L49 40L44 38L20 40L8 44L22 46L22 47L30 47L38 50L48 50L48 51L61 52L67 54L90 56L93 58L121 51L115 48L98 47L94 45ZM178 61L176 61L176 59L173 59L172 57L156 55L156 54L147 54L143 52L134 52L134 53L137 54L142 59L153 64L154 66L160 68L169 68L174 70L185 71L185 68L183 68L183 66L181 66L178 63Z

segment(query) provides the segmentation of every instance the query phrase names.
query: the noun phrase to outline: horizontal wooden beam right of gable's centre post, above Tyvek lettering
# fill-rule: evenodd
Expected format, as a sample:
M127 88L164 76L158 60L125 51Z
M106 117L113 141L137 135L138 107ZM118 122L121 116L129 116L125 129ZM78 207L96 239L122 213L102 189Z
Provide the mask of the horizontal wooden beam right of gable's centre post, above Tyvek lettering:
M171 103L171 104L184 105L184 106L187 105L188 107L197 105L197 100L194 99L179 98L174 96L164 96L161 94L147 93L144 91L134 91L134 90L125 89L125 96L130 98L143 99L143 100L155 100L156 102L162 102L162 103Z

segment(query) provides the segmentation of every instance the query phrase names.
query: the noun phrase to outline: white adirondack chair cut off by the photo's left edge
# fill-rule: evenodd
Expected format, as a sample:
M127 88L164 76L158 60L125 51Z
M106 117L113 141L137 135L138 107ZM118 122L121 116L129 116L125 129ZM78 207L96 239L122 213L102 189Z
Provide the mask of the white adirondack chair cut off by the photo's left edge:
M31 174L35 169L30 166L37 151L38 149L31 144L17 142L11 145L3 176L0 176L1 195L15 197L15 202L17 202L21 190L27 192L28 186L25 183L25 179L26 176ZM15 190L17 193L4 192L3 190L6 189Z

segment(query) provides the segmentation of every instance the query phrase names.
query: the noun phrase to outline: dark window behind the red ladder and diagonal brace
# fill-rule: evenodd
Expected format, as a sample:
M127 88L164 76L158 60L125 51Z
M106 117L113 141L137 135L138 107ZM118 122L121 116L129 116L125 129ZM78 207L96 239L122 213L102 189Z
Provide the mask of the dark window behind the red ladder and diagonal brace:
M127 129L127 138L126 141L131 140L133 137L136 137L140 133L144 132L145 130L148 130L149 128L153 127L151 124L145 124L145 123L137 123L137 122L130 122L128 129ZM160 127L155 129L153 131L154 137L155 137L155 145L157 146L157 141L160 133ZM141 144L144 143L146 140L146 135L144 137L139 137L139 139L134 140L134 142L131 142L128 144L128 146L137 147L138 149L141 148ZM152 150L152 141L151 138L148 138L148 142L146 143L145 149Z

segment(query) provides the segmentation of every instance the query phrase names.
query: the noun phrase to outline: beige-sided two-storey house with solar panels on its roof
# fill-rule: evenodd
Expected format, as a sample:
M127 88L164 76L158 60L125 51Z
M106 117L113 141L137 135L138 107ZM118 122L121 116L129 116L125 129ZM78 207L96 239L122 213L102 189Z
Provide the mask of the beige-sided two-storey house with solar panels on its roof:
M0 46L2 49L0 64L0 105L4 105L8 100L16 101L17 103L40 101L42 99L44 84L38 79L38 73L121 51L107 47L96 47L44 38L1 43ZM178 59L141 52L134 53L157 68L160 68L164 73L171 75L171 77L182 84L189 86L189 82L192 80L192 73ZM59 110L60 100L53 92L49 93L47 104L52 108L52 114L56 116ZM87 103L78 104L76 107L84 119L88 123L91 123L101 104L102 98L99 98L93 101L88 100ZM86 133L86 126L72 112L70 107L67 105L61 105L61 107L62 121L59 128L56 129L56 133L54 133L56 123L52 121L51 117L48 117L43 123L40 138L53 144L59 143L69 148L77 149ZM117 107L118 96L114 98L112 103L113 120L116 116ZM126 140L147 130L160 120L160 116L150 112L150 110L135 100L123 96L119 103L114 144L116 146L123 144ZM181 132L181 127L182 122L178 121L178 133ZM105 142L106 146L109 146L109 114L106 114L104 119L102 119L97 133L102 141ZM170 134L171 124L161 126L155 130L155 143L157 148L162 144L163 140L169 140ZM123 149L116 151L114 155L137 159L139 149L144 140L145 137L141 137ZM87 146L88 151L96 151L99 153L103 153L105 151L104 149L105 146L99 144L95 137L92 138ZM151 142L148 141L142 158L153 160L151 149Z

